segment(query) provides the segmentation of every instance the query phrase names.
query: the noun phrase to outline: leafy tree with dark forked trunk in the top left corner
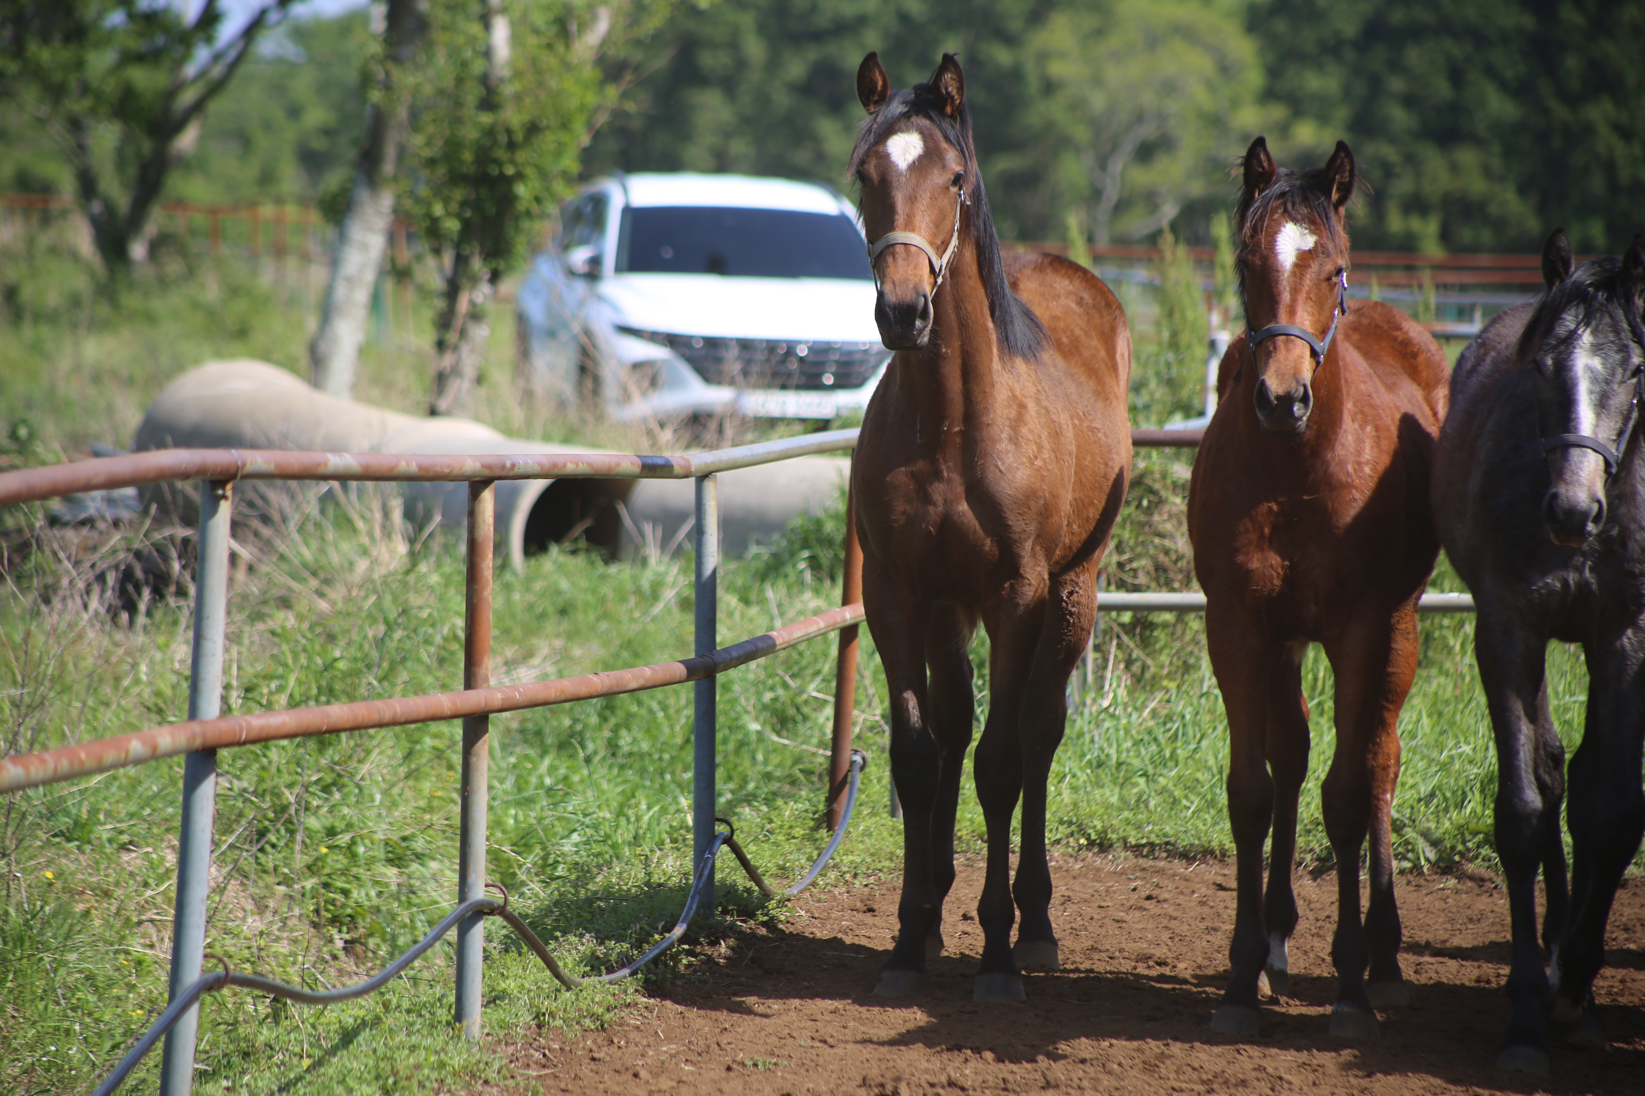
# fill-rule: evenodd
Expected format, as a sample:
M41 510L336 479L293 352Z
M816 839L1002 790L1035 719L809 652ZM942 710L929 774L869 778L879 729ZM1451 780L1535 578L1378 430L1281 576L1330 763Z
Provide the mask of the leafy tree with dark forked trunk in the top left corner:
M148 258L166 176L199 138L206 107L293 0L263 0L224 35L206 0L194 18L151 0L8 0L0 8L0 102L58 145L104 265Z

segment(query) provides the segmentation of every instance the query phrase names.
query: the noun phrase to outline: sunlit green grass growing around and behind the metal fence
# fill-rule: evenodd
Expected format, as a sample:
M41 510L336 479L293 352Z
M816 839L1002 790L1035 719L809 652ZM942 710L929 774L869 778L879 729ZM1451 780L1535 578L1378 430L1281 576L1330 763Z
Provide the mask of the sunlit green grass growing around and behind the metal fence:
M39 260L41 263L44 260ZM67 260L61 260L67 263ZM39 268L36 266L36 271ZM82 274L84 271L81 271ZM143 406L207 357L301 361L298 304L224 268L138 284L109 299L72 265L5 304L0 419L10 460L43 462L87 442L130 437ZM5 276L0 276L3 281ZM0 286L7 289L7 286ZM33 296L30 296L33 294ZM498 324L497 327L505 327ZM569 432L619 444L594 422L556 424L508 406L507 330L482 393L489 417L517 434ZM1138 422L1193 411L1199 365L1143 338ZM362 396L415 409L428 361L373 348ZM508 416L513 416L512 419ZM533 417L540 416L540 417ZM18 431L23 424L25 429ZM658 440L658 439L653 439ZM666 439L661 439L666 440ZM1183 529L1188 462L1138 454L1137 481L1104 567L1109 588L1191 587ZM286 534L237 532L248 564L230 596L225 711L439 692L461 682L462 559L443 539L411 544L375 490L314 504L293 496ZM38 509L0 519L12 549L0 596L0 744L8 753L118 735L183 718L189 611L156 598L110 611L110 577L137 541L166 531L33 536ZM837 601L841 514L796 523L722 578L721 638L752 636ZM163 555L163 554L161 554ZM1454 587L1441 575L1436 585ZM691 649L691 560L610 565L577 549L498 572L495 680L638 665ZM1471 657L1471 618L1425 618L1421 672L1402 720L1405 772L1395 851L1411 869L1494 863L1495 784L1489 723ZM979 730L987 669L979 656ZM734 670L721 684L721 810L772 877L818 851L832 692L832 638ZM1576 654L1550 649L1550 695L1574 744L1584 705ZM1331 672L1309 656L1314 718L1301 853L1326 863L1318 787L1329 764ZM885 690L872 642L857 682L857 741L869 753L850 838L831 869L849 881L898 869L888 817ZM670 688L498 716L494 726L490 861L517 909L576 971L609 969L673 923L689 856L691 693ZM209 950L235 968L309 986L373 973L454 904L456 723L222 751L219 877ZM788 739L788 744L780 739ZM806 749L809 748L809 749ZM1051 838L1064 848L1226 854L1224 716L1194 616L1104 618L1094 672L1051 779ZM0 813L0 1088L89 1089L166 996L181 759L12 795ZM982 817L961 799L959 846L982 848ZM719 909L648 984L694 976L694 963L755 919L785 917L727 859ZM487 930L489 1032L599 1027L635 986L564 992L507 928ZM372 997L326 1009L245 992L202 1006L204 1093L426 1093L497 1075L497 1058L457 1038L449 946ZM153 1086L160 1055L132 1081ZM748 1068L760 1068L750 1060Z

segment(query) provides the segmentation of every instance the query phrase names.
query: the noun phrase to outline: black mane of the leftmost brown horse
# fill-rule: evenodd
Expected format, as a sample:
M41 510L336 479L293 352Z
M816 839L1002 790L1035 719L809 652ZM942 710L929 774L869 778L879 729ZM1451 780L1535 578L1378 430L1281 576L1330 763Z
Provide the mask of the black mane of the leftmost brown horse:
M929 84L915 84L911 89L897 92L864 120L857 133L857 146L850 151L847 177L855 179L869 150L878 145L893 125L910 117L920 117L934 125L943 140L959 150L966 161L966 194L971 197L967 222L977 253L977 271L982 274L982 289L989 297L989 315L994 317L995 342L1007 355L1028 361L1038 360L1046 340L1045 324L1005 279L1000 237L994 228L994 214L989 212L989 194L982 187L982 173L977 169L977 146L971 138L971 107L967 104L961 102L959 115L951 118Z

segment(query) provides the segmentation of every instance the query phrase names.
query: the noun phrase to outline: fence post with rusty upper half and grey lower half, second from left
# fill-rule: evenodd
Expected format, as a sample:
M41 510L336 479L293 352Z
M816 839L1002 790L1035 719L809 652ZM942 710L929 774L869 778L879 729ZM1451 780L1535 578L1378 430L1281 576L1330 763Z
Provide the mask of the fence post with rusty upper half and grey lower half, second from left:
M492 684L492 537L497 490L490 480L469 483L469 573L462 621L462 687ZM485 792L490 769L489 715L462 720L462 823L457 845L457 902L485 897ZM457 1027L480 1037L480 966L485 917L470 914L457 925Z

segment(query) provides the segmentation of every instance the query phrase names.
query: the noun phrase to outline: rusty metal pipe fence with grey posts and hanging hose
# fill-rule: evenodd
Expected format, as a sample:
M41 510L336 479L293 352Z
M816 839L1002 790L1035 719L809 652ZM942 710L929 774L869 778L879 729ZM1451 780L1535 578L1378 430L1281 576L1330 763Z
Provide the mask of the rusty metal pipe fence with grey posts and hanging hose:
M1137 447L1199 445L1202 431L1133 431ZM854 504L847 496L842 605L803 621L717 646L719 587L719 490L717 473L785 460L806 454L854 449L857 431L831 431L804 437L742 445L683 457L638 454L566 455L403 455L403 454L317 454L286 450L156 450L105 457L46 468L0 473L0 504L39 501L120 486L141 486L174 480L201 480L197 573L194 585L194 638L189 672L189 718L94 743L0 759L0 794L39 787L110 769L186 754L183 776L183 822L178 850L176 920L169 979L169 1006L138 1040L99 1093L114 1086L137 1065L161 1035L166 1040L161 1093L184 1096L194 1073L194 1042L202 992L227 986L253 988L293 1001L321 1002L336 994L357 996L385 984L415 961L439 937L456 928L456 1020L470 1038L480 1032L482 925L490 915L503 917L526 945L566 986L627 978L643 963L678 942L697 905L714 905L714 861L730 848L755 886L768 896L776 891L760 876L737 845L729 823L716 818L716 675L808 639L841 633L836 665L832 749L826 817L827 846L811 869L783 894L809 886L839 848L850 823L865 758L852 748L852 705L857 664L857 628L862 615L862 550L857 544ZM696 480L696 651L693 657L622 670L605 670L525 685L490 685L492 644L492 544L494 483L526 478L668 478ZM290 708L250 715L219 716L222 698L224 631L227 619L229 527L237 480L322 480L322 481L469 481L466 536L467 578L464 600L464 680L462 690L423 697L398 697L313 708ZM1198 593L1105 593L1107 611L1204 611ZM1471 611L1467 595L1425 595L1428 611ZM614 697L628 692L696 682L693 703L693 864L694 881L686 909L674 930L640 960L610 974L576 979L553 960L541 940L507 909L485 896L485 807L490 716L546 705ZM309 735L403 726L436 720L462 720L461 833L457 907L411 951L396 958L378 976L332 994L311 994L257 974L217 971L202 974L206 945L206 900L211 879L212 815L217 749Z

